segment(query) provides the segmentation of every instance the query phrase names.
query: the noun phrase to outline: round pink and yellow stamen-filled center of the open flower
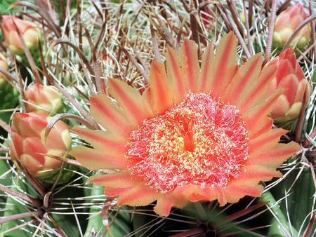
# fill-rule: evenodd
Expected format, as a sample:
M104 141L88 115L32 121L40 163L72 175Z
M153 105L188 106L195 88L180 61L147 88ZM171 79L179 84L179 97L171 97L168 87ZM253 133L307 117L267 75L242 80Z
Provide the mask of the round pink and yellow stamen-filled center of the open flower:
M223 187L239 175L248 141L235 106L209 93L189 93L133 130L126 157L141 159L130 171L158 191L185 184Z

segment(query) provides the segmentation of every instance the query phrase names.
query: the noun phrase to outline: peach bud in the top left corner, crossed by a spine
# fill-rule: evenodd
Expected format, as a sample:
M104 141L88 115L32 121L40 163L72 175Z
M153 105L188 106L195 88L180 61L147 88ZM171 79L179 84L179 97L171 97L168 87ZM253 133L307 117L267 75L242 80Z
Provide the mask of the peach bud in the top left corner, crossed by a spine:
M24 51L15 25L18 27L25 44L29 49L37 48L41 38L40 29L28 20L22 20L11 15L3 15L4 40L13 53L20 54ZM15 25L13 24L15 22Z

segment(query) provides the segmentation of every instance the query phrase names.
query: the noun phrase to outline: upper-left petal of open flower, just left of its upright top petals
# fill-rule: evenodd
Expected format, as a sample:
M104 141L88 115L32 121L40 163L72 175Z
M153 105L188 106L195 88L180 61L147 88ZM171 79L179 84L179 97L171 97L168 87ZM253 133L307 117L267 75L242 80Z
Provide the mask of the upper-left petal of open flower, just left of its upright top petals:
M107 83L111 95L117 100L126 118L133 126L138 126L144 118L152 117L150 104L147 103L145 97L140 95L138 90L118 79L108 79Z

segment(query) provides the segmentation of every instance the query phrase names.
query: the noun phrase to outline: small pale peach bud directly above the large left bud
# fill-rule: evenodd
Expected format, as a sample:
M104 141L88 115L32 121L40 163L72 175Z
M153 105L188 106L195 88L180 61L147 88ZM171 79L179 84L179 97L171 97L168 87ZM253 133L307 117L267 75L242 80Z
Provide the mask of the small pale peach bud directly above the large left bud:
M27 111L39 114L55 114L62 107L62 95L54 86L34 83L25 91Z

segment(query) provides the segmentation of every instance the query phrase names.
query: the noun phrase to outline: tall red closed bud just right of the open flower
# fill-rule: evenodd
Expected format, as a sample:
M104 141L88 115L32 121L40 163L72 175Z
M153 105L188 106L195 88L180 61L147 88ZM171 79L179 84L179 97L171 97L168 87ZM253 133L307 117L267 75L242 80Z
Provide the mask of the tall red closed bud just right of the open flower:
M305 90L308 97L310 96L310 84L296 62L294 50L291 48L282 51L269 65L277 66L275 78L272 79L270 85L270 94L278 88L285 89L284 93L277 98L277 103L270 116L277 123L291 121L297 118L301 111Z

